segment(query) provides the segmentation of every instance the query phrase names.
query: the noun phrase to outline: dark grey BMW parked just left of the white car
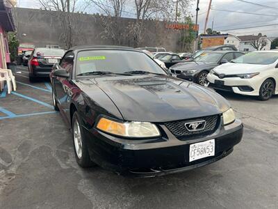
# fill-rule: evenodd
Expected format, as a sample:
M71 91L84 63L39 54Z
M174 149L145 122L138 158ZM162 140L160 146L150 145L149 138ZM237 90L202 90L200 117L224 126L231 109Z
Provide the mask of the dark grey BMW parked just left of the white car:
M242 56L243 52L235 51L211 51L203 52L191 62L177 63L170 68L172 76L205 86L207 75L210 70L222 63Z

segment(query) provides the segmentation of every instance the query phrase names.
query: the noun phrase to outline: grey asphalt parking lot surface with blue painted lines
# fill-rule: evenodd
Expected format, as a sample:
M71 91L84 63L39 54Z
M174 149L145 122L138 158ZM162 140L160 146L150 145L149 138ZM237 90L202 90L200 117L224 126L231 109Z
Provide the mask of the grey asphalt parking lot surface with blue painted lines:
M0 93L0 208L278 208L278 96L222 93L245 124L243 141L206 167L159 178L81 169L51 104L49 80Z

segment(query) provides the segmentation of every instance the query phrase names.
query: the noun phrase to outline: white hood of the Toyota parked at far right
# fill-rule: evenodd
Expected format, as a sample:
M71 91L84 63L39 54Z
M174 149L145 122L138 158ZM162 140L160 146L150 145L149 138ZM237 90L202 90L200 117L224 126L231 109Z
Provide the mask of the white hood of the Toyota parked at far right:
M224 73L225 75L245 74L253 72L261 72L268 68L268 65L254 65L242 63L224 63L214 68L213 71L217 73Z

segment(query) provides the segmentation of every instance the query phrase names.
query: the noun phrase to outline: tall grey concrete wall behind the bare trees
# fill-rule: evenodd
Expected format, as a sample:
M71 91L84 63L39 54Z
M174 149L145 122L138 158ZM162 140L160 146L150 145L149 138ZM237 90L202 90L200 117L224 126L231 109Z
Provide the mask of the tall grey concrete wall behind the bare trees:
M104 35L103 20L107 17L79 13L74 13L73 17L73 45L118 45L113 38ZM136 45L133 36L127 36L125 32L126 26L134 23L134 19L120 19L119 31L120 36L123 37L120 45L130 47L159 46L172 52L179 51L181 31L165 29L165 22L146 20L142 40L139 45ZM57 12L16 8L15 24L20 42L33 42L37 46L60 45L65 47L65 37L62 36L63 26ZM22 34L26 36L22 36Z

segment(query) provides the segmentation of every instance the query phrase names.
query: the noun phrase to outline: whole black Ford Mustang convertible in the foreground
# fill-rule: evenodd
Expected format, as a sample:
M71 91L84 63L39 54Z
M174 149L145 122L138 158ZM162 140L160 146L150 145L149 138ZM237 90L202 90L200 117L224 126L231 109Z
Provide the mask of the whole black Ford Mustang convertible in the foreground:
M243 136L227 100L137 49L74 47L50 77L81 167L161 176L220 160Z

